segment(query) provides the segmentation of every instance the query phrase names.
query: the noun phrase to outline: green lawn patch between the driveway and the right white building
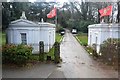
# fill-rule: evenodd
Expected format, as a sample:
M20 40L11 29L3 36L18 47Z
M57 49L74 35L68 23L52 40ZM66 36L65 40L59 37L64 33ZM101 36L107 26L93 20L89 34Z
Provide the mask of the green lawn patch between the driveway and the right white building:
M76 35L76 38L78 38L79 40L79 43L81 45L84 45L86 46L88 44L88 36L87 36L87 33L81 33L81 34L78 34Z

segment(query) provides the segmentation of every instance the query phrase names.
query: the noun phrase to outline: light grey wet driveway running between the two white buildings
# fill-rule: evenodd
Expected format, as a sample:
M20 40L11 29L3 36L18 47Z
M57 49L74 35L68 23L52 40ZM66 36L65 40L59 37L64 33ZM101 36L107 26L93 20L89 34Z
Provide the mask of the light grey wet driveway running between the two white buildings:
M118 72L94 61L67 31L61 43L62 71L66 78L117 78Z

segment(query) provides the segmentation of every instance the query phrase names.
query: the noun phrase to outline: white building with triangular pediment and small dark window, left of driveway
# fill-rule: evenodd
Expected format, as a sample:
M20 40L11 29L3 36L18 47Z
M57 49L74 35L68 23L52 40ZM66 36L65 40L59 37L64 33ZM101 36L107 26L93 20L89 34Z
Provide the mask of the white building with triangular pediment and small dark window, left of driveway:
M38 53L39 42L43 41L44 51L49 52L55 43L55 24L35 23L21 18L12 21L6 30L8 44L26 44L33 47L33 53Z

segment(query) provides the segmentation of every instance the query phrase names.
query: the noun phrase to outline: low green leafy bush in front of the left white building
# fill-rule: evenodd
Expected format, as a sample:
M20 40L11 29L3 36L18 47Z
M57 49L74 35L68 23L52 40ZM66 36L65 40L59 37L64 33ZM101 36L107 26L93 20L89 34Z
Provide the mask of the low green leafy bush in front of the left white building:
M27 45L7 44L2 46L3 63L26 64L32 54L32 47Z

